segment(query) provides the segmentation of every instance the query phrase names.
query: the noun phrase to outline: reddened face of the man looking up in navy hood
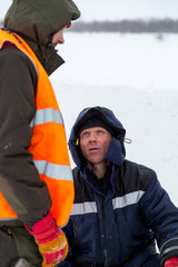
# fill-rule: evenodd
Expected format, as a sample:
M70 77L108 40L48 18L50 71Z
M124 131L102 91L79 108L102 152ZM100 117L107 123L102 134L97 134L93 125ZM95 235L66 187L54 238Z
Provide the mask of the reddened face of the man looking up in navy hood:
M80 134L80 149L89 164L105 160L110 141L110 132L102 127L88 128Z

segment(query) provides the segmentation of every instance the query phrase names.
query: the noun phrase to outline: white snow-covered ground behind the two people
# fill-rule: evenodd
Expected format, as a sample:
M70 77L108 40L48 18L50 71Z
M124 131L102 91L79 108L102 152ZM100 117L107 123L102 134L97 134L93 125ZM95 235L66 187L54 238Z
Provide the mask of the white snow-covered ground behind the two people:
M178 36L68 32L65 39L58 48L66 63L50 79L67 138L83 108L112 109L132 140L127 159L154 168L178 206Z

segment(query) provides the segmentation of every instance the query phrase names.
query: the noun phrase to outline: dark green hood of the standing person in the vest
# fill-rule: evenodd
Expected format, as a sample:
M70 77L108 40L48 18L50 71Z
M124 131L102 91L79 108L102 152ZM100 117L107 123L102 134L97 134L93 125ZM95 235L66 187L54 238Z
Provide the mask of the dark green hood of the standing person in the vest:
M3 27L21 36L46 68L52 52L59 57L55 49L47 48L50 37L79 17L72 0L13 0Z

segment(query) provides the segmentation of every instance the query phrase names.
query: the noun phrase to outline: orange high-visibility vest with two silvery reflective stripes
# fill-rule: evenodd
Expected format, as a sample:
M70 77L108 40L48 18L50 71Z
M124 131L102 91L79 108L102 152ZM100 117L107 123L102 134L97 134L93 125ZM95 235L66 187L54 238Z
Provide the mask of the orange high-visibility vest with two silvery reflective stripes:
M18 34L0 30L0 49L6 41L24 52L37 70L37 111L30 123L33 135L29 151L40 179L48 186L52 199L50 211L57 225L63 226L70 215L75 191L62 116L48 75L30 47ZM17 218L0 191L0 219Z

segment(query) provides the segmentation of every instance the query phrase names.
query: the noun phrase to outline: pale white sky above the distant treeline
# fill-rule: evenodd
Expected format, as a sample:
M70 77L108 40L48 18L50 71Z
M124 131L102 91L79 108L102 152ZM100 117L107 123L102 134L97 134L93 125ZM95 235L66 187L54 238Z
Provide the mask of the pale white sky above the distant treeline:
M2 19L12 0L0 0ZM178 0L75 0L82 20L120 20L123 18L178 19Z

